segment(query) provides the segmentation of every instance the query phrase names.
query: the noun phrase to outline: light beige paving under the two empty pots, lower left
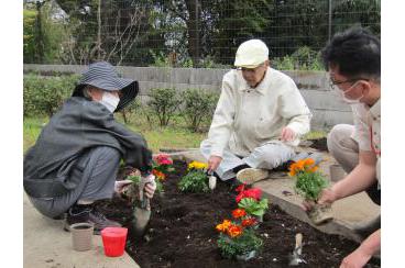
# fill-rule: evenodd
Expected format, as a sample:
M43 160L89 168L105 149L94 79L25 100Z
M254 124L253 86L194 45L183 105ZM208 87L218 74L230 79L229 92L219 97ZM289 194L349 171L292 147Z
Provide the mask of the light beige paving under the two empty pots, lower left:
M63 231L63 220L51 220L40 214L24 193L24 267L25 268L136 268L127 253L120 257L103 255L100 235L95 235L94 248L76 252L70 233Z

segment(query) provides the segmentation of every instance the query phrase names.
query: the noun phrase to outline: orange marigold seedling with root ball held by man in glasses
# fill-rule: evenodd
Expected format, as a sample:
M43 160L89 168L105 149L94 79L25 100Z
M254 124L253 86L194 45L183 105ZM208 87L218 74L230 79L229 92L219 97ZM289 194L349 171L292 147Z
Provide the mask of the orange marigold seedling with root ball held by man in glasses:
M289 176L295 178L295 191L305 201L314 204L308 216L316 224L324 224L332 220L332 210L329 203L319 204L318 199L324 189L329 185L326 177L317 171L318 166L314 159L306 158L289 166Z

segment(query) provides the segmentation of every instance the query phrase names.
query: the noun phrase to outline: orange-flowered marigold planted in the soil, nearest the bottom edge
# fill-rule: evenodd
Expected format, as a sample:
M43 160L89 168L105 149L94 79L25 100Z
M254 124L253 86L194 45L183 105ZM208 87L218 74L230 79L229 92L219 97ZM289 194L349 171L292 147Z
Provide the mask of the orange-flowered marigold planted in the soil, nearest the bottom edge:
M244 210L236 209L233 220L223 220L216 226L217 239L222 257L249 260L254 258L263 246L263 241L255 234L256 220Z

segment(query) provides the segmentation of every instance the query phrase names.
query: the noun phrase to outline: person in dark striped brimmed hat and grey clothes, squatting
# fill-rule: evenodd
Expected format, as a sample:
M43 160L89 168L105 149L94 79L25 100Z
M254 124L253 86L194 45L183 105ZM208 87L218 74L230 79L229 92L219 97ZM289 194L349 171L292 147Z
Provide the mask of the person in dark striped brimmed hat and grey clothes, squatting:
M73 97L26 153L24 190L42 214L55 219L67 213L65 230L78 222L92 223L96 234L120 226L98 210L97 201L119 191L121 159L141 170L140 192L153 197L156 185L146 141L113 118L138 91L138 81L120 78L109 63L89 65Z

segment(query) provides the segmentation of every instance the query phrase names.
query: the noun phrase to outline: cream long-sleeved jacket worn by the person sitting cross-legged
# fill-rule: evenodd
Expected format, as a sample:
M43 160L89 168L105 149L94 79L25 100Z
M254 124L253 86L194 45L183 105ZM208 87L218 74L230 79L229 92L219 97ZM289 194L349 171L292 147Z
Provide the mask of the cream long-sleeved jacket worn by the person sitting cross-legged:
M311 113L293 79L267 68L263 80L251 88L241 70L230 70L222 79L222 91L208 133L211 155L229 148L248 156L266 143L282 143L282 129L291 127L296 137L285 143L296 146L309 132Z

